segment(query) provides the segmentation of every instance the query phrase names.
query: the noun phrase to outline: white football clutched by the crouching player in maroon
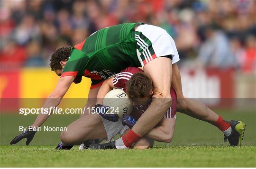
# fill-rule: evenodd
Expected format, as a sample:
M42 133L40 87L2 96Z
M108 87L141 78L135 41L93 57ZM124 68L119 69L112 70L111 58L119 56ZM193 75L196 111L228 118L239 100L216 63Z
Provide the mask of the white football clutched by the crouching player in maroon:
M108 113L117 114L119 119L123 114L129 115L133 108L127 94L122 89L113 89L108 92L103 99L103 105L110 107Z

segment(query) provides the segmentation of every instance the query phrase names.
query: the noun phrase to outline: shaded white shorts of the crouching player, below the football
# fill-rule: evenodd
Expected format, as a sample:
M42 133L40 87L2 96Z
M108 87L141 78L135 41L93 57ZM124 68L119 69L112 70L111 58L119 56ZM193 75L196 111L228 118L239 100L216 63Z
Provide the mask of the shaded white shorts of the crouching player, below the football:
M129 129L129 127L127 125L122 125L122 121L118 120L117 122L111 122L109 120L106 120L104 118L102 118L102 122L103 125L105 127L105 130L107 132L108 135L108 140L111 140L112 138L114 138L117 134L119 134L120 136L122 136L124 134L124 132Z

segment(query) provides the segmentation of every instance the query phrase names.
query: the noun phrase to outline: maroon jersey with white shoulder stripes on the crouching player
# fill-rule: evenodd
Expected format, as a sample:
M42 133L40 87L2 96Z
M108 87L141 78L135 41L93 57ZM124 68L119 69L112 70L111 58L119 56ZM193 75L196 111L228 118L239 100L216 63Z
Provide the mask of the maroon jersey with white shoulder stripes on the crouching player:
M142 70L135 67L128 67L125 70L118 73L113 78L113 85L116 89L122 89L126 92L126 82L131 78L134 73L141 72ZM172 106L165 113L164 118L175 118L176 119L176 105L177 105L177 96L175 90L171 87L171 97L172 97ZM146 111L151 102L137 105L133 107L131 115L138 120L139 117Z

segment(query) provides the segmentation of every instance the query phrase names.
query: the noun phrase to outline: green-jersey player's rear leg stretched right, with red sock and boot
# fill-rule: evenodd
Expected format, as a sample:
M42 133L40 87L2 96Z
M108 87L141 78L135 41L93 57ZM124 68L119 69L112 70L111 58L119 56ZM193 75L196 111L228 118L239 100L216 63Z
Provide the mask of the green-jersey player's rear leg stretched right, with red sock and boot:
M243 122L236 120L231 120L230 122L227 122L200 101L191 98L184 98L182 92L180 71L176 63L173 64L172 87L177 93L178 112L215 125L219 128L220 131L224 133L225 142L228 139L231 146L241 145L241 140L243 139L244 135L243 130L245 130L246 125Z

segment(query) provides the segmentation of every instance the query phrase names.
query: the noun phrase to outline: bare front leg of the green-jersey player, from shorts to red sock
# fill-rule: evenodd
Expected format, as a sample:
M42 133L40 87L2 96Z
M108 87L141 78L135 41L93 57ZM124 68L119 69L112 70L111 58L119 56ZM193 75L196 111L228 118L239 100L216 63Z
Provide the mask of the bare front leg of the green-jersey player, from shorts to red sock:
M158 57L144 66L144 71L150 75L153 81L154 94L151 105L138 119L132 130L140 136L146 135L172 105L170 95L172 81L172 60L167 57Z

